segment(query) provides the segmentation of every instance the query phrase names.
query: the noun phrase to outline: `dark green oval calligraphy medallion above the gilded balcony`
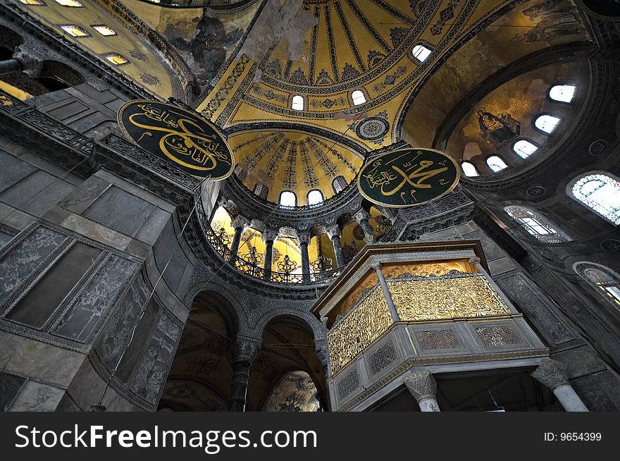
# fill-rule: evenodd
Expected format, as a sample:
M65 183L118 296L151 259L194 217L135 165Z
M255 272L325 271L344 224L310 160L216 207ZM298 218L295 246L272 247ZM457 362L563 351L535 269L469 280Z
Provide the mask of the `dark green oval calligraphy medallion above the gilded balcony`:
M359 173L361 195L385 207L403 208L442 197L459 183L456 161L435 149L409 147L370 159Z

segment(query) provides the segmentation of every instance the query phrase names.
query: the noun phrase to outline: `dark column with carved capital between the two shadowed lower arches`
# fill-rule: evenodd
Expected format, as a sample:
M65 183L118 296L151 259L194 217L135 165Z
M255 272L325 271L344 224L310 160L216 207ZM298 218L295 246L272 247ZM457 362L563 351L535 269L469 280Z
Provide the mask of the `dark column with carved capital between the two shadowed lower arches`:
M262 341L259 338L237 335L235 343L230 350L233 362L233 381L230 384L230 399L228 400L229 412L244 412L247 406L247 388L249 383L249 371L252 362L261 348Z

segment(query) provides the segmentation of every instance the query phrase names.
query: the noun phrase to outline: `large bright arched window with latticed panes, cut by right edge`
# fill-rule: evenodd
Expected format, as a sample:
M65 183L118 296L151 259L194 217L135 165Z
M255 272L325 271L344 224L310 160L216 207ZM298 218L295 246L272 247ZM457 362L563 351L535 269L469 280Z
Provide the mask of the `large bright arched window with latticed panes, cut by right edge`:
M620 181L604 173L587 173L573 180L566 192L602 218L620 224Z

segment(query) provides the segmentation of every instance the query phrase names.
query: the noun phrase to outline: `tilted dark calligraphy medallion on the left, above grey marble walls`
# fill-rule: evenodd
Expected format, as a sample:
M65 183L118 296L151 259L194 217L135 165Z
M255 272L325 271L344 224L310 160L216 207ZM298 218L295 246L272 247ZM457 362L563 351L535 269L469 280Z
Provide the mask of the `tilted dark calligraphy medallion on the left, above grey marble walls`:
M120 108L118 124L134 144L185 173L212 180L233 173L235 159L224 136L196 113L136 100Z

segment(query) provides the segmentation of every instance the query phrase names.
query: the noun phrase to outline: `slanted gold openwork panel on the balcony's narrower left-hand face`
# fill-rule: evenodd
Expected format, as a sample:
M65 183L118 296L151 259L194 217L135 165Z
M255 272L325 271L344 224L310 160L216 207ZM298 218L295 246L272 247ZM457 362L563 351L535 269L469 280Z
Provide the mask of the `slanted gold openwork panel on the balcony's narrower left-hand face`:
M392 325L381 288L376 287L328 334L332 373L337 373Z

